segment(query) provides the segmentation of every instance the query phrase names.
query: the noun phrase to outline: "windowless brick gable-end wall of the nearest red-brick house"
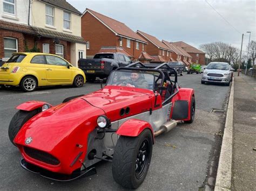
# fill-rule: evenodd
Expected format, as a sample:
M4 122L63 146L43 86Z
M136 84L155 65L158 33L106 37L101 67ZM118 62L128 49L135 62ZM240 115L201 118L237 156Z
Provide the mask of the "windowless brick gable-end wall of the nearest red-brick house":
M86 56L95 55L102 46L117 46L116 35L89 12L83 15L81 25L82 37L90 42L90 49L86 50ZM123 47L124 45L126 46L126 42L123 41Z

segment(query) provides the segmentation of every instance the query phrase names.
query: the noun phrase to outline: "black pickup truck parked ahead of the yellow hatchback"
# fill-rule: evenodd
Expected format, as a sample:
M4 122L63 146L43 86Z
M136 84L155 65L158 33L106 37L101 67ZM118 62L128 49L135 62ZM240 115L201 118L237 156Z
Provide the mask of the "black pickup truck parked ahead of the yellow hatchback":
M78 67L84 71L86 80L93 82L96 77L103 79L109 76L112 70L127 66L130 63L129 57L123 53L98 53L93 59L79 59Z

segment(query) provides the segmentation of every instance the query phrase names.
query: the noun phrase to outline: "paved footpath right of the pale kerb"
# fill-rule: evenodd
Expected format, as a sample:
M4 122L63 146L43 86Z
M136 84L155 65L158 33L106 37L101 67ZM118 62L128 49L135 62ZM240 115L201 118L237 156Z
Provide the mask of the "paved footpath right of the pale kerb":
M256 190L256 79L234 76L231 190Z

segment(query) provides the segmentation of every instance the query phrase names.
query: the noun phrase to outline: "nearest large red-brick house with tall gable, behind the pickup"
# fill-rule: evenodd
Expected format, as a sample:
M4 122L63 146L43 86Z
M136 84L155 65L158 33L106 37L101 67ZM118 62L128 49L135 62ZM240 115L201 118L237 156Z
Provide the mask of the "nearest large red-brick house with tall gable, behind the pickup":
M142 58L142 52L147 54L147 41L124 23L90 9L84 11L81 22L82 37L87 41L87 58L92 58L103 46L121 47L134 61ZM143 61L149 62L150 58Z

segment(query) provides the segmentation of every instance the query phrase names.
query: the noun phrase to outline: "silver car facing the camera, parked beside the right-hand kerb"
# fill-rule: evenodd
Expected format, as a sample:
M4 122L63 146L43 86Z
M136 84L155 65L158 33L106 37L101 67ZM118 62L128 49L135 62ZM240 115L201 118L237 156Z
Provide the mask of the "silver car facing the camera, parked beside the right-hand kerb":
M203 72L201 83L215 82L230 86L233 71L227 62L210 62Z

